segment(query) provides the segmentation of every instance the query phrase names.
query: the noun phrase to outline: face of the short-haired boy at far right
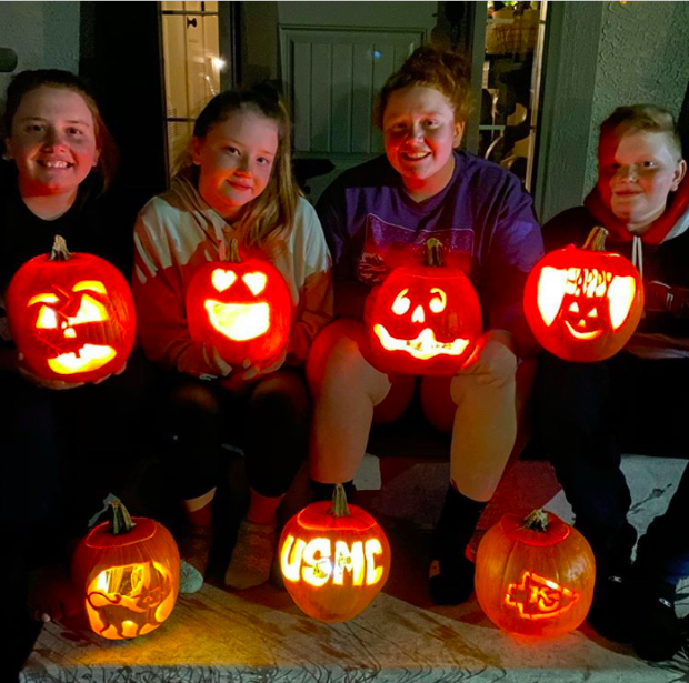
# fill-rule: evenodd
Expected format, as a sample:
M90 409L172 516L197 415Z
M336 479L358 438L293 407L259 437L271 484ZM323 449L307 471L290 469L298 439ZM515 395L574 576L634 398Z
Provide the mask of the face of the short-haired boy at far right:
M686 169L667 133L611 134L598 150L598 189L620 221L645 228L662 215L668 194L677 190Z

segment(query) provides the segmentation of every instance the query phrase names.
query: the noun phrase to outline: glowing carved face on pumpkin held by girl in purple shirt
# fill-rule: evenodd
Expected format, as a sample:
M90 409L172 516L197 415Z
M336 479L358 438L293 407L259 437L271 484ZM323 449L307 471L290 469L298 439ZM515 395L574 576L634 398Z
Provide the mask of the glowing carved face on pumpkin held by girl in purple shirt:
M438 287L430 288L426 305L420 302L412 303L408 294L409 288L405 288L399 292L390 310L400 319L407 317L411 311L409 321L417 325L416 329L421 327L421 330L413 339L399 339L390 334L383 324L376 323L373 332L380 340L383 349L387 351L405 351L419 360L428 360L438 355L461 355L469 345L470 340L456 338L448 342L441 342L436 339L436 333L433 332L435 319L440 314L445 314L448 305L448 295L445 290Z

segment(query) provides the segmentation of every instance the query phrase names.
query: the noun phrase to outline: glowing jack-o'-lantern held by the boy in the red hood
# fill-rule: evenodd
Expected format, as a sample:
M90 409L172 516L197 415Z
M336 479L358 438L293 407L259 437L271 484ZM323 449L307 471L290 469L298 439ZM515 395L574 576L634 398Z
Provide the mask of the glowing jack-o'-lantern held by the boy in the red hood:
M581 249L546 254L527 279L527 321L543 348L567 361L615 355L643 313L641 275L625 257L605 251L607 234L593 228Z

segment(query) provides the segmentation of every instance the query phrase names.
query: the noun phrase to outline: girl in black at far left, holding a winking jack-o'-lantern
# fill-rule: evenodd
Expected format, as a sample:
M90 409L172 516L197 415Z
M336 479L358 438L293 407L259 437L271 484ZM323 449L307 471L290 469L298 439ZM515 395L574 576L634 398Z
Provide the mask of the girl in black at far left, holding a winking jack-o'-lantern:
M103 495L118 483L112 474L99 476L101 468L127 469L109 463L122 462L132 452L137 402L129 392L134 380L131 360L127 372L123 365L121 374L99 385L36 376L12 342L4 294L16 271L49 253L58 234L71 251L100 255L129 279L133 217L127 215L121 198L114 202L109 192L114 144L78 77L56 69L17 74L7 91L3 122L0 384L9 474L3 476L2 514L12 521L18 554L36 568L69 560L66 539L86 530ZM114 414L118 429L108 431ZM77 491L84 472L92 483ZM38 530L48 542L31 541ZM52 566L50 573L66 576L63 566ZM43 585L32 596L34 614L63 615L66 594L52 591L52 582L38 583Z

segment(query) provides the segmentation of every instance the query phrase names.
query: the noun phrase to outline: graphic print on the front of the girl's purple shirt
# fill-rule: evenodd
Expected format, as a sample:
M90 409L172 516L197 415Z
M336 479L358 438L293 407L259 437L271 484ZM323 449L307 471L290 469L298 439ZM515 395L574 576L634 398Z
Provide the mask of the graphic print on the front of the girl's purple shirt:
M462 228L419 230L388 223L373 213L366 219L363 251L357 264L357 278L368 285L379 284L388 273L407 263L421 263L426 242L436 238L442 242L446 264L460 268L471 277L473 232Z

